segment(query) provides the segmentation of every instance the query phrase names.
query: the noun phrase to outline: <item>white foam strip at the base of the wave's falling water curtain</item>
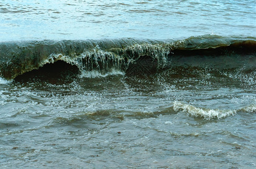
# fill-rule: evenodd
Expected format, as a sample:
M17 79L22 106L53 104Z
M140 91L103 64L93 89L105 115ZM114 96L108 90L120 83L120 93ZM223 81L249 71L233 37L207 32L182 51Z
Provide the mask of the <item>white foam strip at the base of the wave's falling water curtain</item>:
M91 71L86 71L83 70L81 74L79 75L80 78L97 78L97 77L107 77L108 75L125 75L124 72L116 69L112 69L107 73L101 73L98 70L91 70Z

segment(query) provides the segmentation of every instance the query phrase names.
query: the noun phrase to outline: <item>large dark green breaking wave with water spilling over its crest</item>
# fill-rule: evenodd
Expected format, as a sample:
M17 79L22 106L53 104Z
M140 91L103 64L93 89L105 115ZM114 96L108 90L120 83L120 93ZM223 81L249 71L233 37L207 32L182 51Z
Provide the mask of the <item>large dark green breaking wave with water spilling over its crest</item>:
M214 64L233 65L246 69L255 69L256 39L253 37L220 37L203 35L180 41L140 39L103 39L86 41L25 41L0 42L0 77L14 79L18 75L39 69L58 60L78 67L84 76L92 74L107 75L111 72L129 72L160 70L176 64L184 58L198 56L209 57ZM246 56L245 56L246 55ZM215 59L215 56L229 56ZM198 57L194 65L200 63ZM245 60L242 61L241 60ZM227 63L228 61L228 63ZM210 63L211 64L211 63ZM141 70L143 67L144 70ZM138 69L140 69L138 71ZM89 73L91 72L91 73ZM87 74L87 75L86 75ZM91 75L89 75L91 74ZM121 73L122 74L122 73ZM83 75L82 75L83 76ZM96 75L97 76L97 75Z

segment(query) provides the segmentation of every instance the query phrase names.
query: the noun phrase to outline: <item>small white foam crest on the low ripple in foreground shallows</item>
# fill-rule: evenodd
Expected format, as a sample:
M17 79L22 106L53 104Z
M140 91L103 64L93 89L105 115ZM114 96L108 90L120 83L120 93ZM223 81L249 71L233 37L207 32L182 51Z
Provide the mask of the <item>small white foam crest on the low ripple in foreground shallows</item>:
M229 115L236 114L236 110L220 110L220 109L207 109L207 108L197 108L194 105L181 103L178 101L174 102L173 109L175 112L182 110L182 112L186 112L193 117L203 117L206 119L211 118L224 118Z

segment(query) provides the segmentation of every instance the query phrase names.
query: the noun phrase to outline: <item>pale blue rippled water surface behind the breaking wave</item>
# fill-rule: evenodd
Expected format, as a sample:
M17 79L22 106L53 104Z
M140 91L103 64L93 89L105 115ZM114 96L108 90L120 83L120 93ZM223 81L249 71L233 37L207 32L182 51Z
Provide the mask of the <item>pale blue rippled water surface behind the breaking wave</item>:
M0 39L256 35L255 1L6 1Z

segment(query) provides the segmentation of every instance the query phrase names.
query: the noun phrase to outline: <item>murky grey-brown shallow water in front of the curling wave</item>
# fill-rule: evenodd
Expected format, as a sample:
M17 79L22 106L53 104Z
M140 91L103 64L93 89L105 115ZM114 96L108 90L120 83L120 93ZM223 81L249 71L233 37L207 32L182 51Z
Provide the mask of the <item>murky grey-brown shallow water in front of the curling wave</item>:
M253 168L255 71L173 71L1 84L1 166Z

